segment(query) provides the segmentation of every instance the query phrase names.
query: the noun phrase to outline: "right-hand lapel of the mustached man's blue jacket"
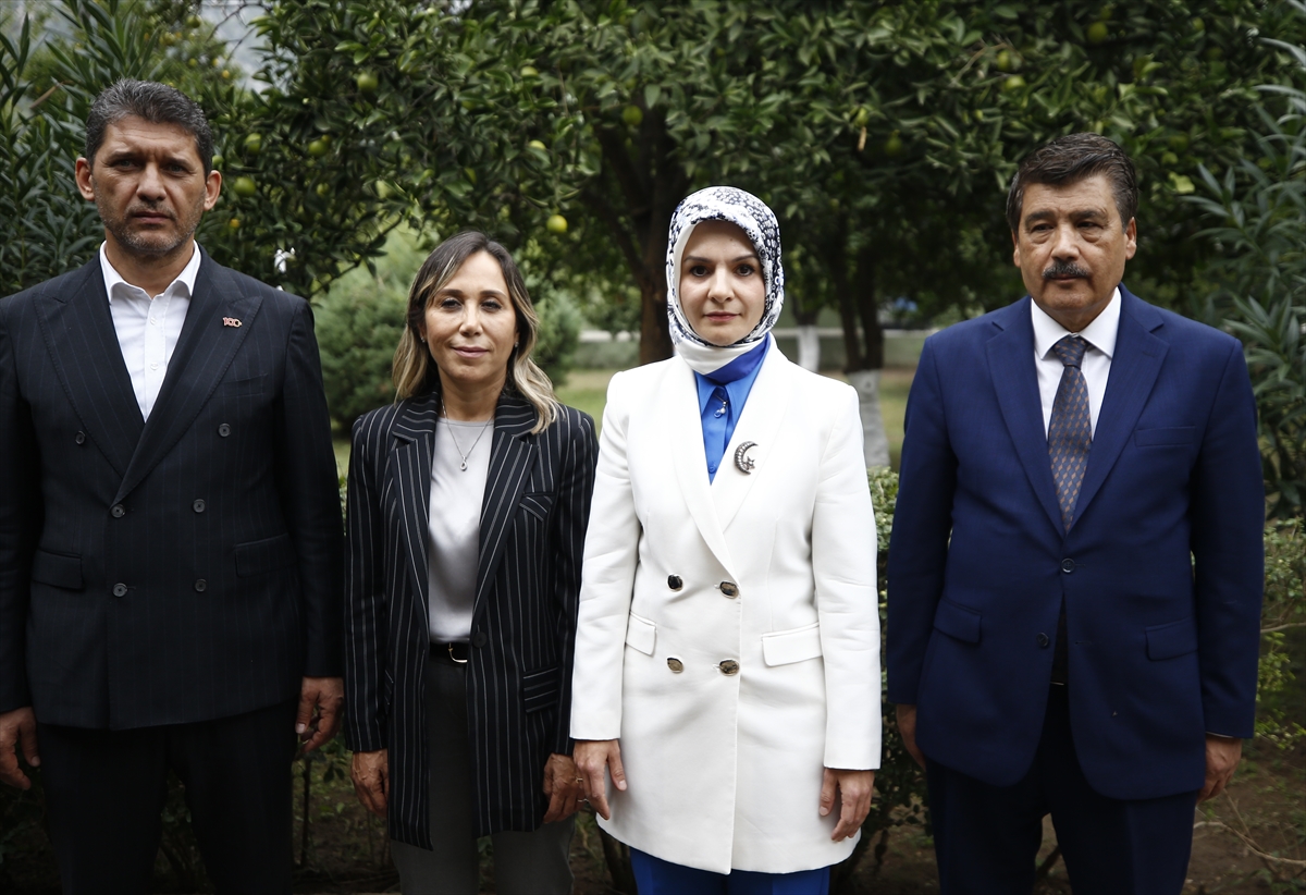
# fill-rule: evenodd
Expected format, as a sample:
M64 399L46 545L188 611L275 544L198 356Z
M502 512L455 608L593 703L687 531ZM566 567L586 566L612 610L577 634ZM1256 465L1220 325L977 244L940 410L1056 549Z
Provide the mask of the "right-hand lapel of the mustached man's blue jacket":
M1170 350L1165 341L1152 334L1161 324L1160 314L1121 286L1121 323L1111 355L1111 372L1097 414L1093 447L1088 452L1084 483L1075 503L1075 519L1084 517L1084 510L1106 481L1134 432L1143 405L1152 395L1161 362Z

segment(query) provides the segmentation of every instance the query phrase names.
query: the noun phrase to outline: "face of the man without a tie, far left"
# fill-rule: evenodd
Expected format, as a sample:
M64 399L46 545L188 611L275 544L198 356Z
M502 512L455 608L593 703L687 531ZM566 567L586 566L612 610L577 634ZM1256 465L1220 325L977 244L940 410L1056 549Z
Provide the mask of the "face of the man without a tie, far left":
M217 171L205 176L189 132L136 116L104 128L94 165L77 159L77 188L99 209L111 255L141 264L189 259L191 238L221 186Z

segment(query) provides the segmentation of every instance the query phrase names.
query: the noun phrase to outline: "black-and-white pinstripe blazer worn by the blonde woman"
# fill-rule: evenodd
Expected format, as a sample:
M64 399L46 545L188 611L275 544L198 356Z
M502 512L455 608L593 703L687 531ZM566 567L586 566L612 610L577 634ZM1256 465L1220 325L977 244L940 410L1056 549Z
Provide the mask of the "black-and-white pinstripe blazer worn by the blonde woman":
M345 588L345 736L389 750L389 827L430 848L423 670L430 652L427 523L439 397L354 423ZM571 669L580 561L594 490L594 421L572 408L538 435L504 389L481 508L468 662L477 835L539 827L551 753L571 754Z

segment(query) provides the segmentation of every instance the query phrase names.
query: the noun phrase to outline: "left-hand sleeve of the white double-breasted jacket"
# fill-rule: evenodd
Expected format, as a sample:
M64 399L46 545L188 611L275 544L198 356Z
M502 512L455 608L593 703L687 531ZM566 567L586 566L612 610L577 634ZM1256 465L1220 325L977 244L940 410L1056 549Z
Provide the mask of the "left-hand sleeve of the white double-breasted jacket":
M585 532L576 659L572 673L571 736L616 740L622 736L622 665L626 625L635 592L640 527L626 453L629 404L623 376L613 378L603 408L594 499Z

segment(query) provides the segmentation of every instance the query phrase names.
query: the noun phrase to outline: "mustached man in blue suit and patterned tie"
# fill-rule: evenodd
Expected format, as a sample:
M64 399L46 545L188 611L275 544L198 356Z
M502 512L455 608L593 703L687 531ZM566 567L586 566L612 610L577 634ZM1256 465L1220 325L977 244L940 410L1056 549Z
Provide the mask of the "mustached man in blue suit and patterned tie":
M1029 295L930 337L889 550L888 696L944 892L1179 892L1252 734L1264 486L1238 342L1121 282L1134 166L1071 135L1007 218Z

